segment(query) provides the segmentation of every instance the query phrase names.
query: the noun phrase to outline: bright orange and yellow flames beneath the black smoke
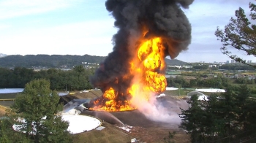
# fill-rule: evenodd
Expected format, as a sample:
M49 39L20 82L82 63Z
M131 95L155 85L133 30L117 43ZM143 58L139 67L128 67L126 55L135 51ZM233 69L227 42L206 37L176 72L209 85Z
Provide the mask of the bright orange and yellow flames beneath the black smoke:
M137 108L134 100L137 100L136 103L148 101L150 96L164 91L167 85L165 75L162 74L165 71L164 52L161 38L143 41L138 46L138 54L129 62L129 75L124 75L124 79L130 75L133 77L127 92L118 93L120 91L110 87L102 98L94 101L94 107L90 109L108 112L132 110Z

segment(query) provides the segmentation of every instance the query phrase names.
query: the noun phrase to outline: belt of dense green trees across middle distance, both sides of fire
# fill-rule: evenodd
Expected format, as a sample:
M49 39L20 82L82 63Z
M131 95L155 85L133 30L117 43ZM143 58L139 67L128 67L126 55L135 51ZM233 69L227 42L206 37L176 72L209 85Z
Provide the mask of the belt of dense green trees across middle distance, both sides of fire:
M96 69L86 69L82 65L75 66L71 70L47 69L34 71L24 67L14 69L0 68L0 88L24 88L27 82L35 79L50 80L52 90L84 90L91 89L90 77ZM231 79L218 74L217 77L209 77L207 74L192 74L189 76L195 79L187 80L184 76L167 78L167 86L176 88L226 88L231 83ZM236 84L255 85L255 79L248 77L233 79ZM97 88L97 87L96 87ZM256 88L252 88L252 93L256 94Z

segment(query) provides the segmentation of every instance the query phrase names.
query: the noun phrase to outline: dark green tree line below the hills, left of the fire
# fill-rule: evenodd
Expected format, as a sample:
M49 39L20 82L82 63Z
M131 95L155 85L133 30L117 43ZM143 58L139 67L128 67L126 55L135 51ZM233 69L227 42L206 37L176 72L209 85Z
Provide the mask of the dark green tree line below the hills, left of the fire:
M95 69L85 69L82 65L72 70L48 69L34 71L24 67L14 69L0 68L0 88L24 88L27 82L36 79L50 80L52 90L85 90L91 89L89 81Z

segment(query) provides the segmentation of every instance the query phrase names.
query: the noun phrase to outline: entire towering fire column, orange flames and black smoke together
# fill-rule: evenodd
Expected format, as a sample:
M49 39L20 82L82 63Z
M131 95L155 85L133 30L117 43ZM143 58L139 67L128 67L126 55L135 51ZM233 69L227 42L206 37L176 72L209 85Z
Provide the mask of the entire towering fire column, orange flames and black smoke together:
M91 110L132 110L165 90L165 57L176 58L191 41L191 25L181 7L192 2L105 2L118 32L113 36L113 52L91 77L91 84L104 93L91 103Z

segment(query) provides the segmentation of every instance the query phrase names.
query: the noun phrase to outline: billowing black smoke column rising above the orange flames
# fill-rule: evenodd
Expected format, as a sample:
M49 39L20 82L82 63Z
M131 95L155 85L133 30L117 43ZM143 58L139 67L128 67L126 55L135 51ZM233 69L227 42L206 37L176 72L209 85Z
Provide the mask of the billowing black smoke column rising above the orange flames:
M130 86L133 75L123 78L129 71L129 60L137 55L139 37L159 36L165 45L165 55L176 58L186 50L191 39L191 25L181 7L188 8L194 0L108 0L106 9L116 19L118 28L113 36L113 52L97 69L91 83L102 92L110 87L123 94ZM146 31L146 33L145 33ZM129 77L130 76L130 77ZM123 100L118 96L117 100Z

